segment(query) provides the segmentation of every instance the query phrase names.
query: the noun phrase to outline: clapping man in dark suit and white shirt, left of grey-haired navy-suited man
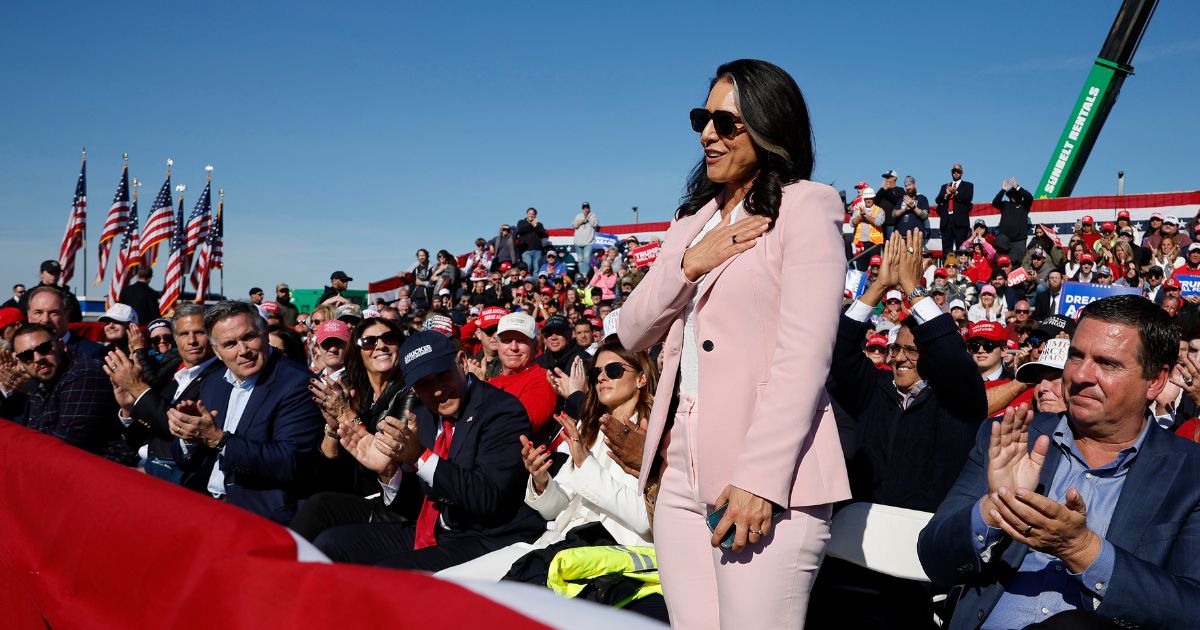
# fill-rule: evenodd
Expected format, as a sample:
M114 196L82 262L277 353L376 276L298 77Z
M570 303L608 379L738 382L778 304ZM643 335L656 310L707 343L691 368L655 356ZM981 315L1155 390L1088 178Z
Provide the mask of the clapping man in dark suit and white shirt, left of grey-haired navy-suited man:
M172 452L174 436L170 434L167 412L180 401L199 398L200 384L214 374L220 377L226 367L212 354L212 344L204 331L203 305L185 304L176 308L173 330L182 365L160 389L146 383L139 362L121 350L104 356L104 372L113 382L113 394L121 406L118 418L125 425L125 440L133 449L146 448L143 455L145 472L178 484L182 470Z

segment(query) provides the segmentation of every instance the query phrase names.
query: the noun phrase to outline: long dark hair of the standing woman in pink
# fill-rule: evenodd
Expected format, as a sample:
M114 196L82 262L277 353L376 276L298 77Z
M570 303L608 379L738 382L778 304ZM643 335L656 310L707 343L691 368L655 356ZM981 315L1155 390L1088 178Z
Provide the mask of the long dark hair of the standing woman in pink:
M733 83L733 98L758 157L758 173L744 202L745 211L774 221L784 186L809 179L816 166L809 107L796 80L784 68L757 59L739 59L716 68L708 90L721 80ZM695 215L715 198L722 184L708 179L704 158L688 176L688 192L676 218Z

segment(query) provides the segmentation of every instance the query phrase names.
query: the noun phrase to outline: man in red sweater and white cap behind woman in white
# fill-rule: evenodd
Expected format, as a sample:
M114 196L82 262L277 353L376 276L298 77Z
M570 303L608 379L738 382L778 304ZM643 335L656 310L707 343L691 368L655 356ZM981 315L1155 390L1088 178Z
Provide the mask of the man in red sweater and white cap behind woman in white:
M534 362L538 354L538 324L529 313L509 313L496 326L496 349L500 358L500 373L488 383L514 395L529 413L534 443L544 443L554 434L557 422L548 420L558 402L545 367Z

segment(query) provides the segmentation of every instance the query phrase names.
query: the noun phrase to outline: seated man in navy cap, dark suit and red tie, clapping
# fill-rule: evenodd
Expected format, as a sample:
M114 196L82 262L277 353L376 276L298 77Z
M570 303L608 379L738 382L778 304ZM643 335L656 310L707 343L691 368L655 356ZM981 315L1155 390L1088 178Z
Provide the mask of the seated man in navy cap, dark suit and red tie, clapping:
M338 562L438 571L536 539L546 522L524 504L520 438L532 432L524 407L468 377L464 356L439 332L413 335L400 355L421 404L407 419L385 419L374 434L356 424L338 433L379 475L388 502L401 482L416 481L420 514L415 522L335 527L317 536L317 547Z

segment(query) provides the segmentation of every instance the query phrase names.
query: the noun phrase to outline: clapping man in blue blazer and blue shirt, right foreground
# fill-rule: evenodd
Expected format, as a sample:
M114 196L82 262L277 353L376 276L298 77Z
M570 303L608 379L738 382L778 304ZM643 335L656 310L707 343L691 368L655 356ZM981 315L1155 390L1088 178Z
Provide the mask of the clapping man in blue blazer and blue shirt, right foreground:
M920 534L934 582L964 584L949 628L1188 628L1200 619L1200 445L1147 406L1178 335L1135 295L1082 312L1064 414L980 431Z

